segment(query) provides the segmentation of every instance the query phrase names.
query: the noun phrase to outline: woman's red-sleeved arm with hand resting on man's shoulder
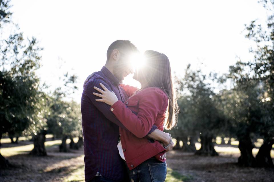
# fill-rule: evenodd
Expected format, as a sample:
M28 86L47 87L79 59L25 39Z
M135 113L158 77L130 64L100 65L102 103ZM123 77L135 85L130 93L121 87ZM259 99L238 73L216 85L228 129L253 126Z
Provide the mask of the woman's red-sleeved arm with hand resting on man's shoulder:
M104 85L100 84L104 90L95 88L101 94L93 93L102 99L96 99L98 102L109 104L110 111L114 113L117 119L135 136L143 138L148 134L158 113L162 107L167 107L167 97L163 92L153 90L153 92L143 92L143 96L139 101L138 114L132 113L130 109L117 99L114 93L110 92Z

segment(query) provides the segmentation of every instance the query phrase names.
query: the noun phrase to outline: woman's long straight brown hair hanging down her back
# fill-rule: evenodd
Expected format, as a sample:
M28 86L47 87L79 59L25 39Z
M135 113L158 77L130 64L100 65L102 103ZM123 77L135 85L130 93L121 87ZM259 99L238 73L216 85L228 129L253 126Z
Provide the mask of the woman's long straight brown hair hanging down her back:
M144 56L147 64L138 76L143 80L142 86L159 87L166 93L169 102L165 128L171 129L177 122L178 104L169 59L165 54L151 50L145 51Z

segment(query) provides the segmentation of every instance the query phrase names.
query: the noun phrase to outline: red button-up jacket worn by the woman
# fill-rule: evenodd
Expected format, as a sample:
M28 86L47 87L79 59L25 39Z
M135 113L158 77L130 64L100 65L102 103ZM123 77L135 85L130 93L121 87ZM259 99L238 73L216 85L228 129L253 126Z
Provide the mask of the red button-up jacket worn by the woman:
M110 107L110 110L130 131L119 128L126 164L131 170L153 156L161 160L159 158L164 154L165 148L158 141L152 143L143 137L148 134L153 125L164 130L168 97L158 87L138 90L134 94L135 87L123 84L120 86L130 97L124 103L117 101Z

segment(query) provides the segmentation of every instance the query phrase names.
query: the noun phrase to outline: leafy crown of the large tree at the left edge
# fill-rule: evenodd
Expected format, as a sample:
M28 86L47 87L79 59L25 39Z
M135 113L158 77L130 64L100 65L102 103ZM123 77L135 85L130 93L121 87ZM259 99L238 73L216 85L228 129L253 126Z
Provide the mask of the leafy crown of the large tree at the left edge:
M12 32L8 37L3 35L0 41L0 130L1 133L33 134L36 137L46 129L45 108L41 100L43 92L35 73L40 67L40 51L43 49L35 38L25 40L18 26L10 21L9 1L0 1L0 5L0 29ZM3 26L6 23L11 23L11 26Z

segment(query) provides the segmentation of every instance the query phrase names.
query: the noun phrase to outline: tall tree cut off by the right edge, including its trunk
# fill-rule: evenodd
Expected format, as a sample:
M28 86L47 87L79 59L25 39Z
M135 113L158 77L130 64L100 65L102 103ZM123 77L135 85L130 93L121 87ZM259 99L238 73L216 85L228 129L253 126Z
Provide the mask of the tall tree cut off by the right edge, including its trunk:
M267 30L263 30L261 24L257 24L255 20L246 26L246 37L257 44L255 49L250 49L254 54L254 60L246 65L254 73L252 78L260 80L263 88L261 96L263 116L259 130L264 143L256 159L259 166L273 167L270 151L274 144L274 1L261 0L260 2L272 15L267 19Z

